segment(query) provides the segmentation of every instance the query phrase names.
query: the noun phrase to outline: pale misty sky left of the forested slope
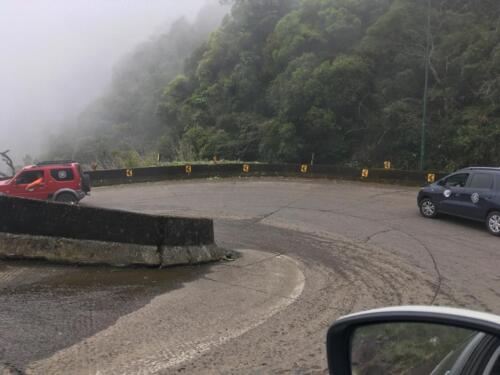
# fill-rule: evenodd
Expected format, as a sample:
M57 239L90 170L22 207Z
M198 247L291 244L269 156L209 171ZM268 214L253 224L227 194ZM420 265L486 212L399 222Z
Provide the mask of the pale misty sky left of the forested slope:
M0 151L36 155L48 128L103 94L120 57L205 1L0 0Z

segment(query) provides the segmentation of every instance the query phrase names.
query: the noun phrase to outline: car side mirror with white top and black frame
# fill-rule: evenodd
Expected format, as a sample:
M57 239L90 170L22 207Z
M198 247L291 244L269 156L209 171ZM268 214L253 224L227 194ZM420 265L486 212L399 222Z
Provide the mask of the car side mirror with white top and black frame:
M500 317L440 307L372 310L328 331L335 375L498 374Z

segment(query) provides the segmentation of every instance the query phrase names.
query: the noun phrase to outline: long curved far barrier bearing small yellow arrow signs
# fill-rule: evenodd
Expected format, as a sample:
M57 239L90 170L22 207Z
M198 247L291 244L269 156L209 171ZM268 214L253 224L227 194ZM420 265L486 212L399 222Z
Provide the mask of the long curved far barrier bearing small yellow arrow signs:
M88 172L94 186L109 186L137 182L179 180L209 177L312 177L361 180L367 182L388 182L405 185L424 185L429 174L436 179L446 175L443 172L402 171L394 169L367 168L368 177L362 177L364 168L348 168L333 165L298 164L215 164L184 165L137 169L117 169Z

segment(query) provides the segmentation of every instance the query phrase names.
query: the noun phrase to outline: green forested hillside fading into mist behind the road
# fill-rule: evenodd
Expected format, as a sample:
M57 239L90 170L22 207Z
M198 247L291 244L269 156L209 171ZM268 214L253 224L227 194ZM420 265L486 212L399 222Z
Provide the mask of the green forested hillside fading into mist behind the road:
M169 36L187 39L180 54L143 47L115 82L120 95L90 109L113 107L115 117L86 114L82 126L115 129L116 149L123 142L172 160L298 162L314 153L319 163L417 168L427 10L426 0L233 1L182 75L150 73L178 66L196 44L188 25ZM499 2L433 0L430 15L427 165L500 165ZM161 87L159 106L138 86Z

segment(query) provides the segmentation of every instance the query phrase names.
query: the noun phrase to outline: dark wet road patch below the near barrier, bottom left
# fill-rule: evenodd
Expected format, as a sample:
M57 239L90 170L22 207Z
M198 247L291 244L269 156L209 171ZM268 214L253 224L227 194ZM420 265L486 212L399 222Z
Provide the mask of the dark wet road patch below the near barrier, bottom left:
M0 262L0 368L9 363L22 370L50 357L209 269Z

